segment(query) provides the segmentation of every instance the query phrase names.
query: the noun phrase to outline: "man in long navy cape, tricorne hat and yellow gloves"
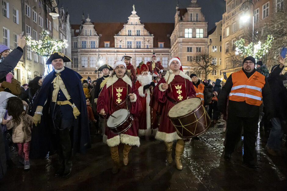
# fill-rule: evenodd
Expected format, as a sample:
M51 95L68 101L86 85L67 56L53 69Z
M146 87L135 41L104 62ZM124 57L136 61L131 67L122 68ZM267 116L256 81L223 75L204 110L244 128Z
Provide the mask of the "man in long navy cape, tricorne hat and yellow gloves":
M47 100L45 108L49 109L52 117L52 132L56 134L59 159L55 175L67 177L72 170L72 155L90 147L90 135L82 76L64 67L64 62L71 62L71 59L60 52L53 52L47 60L46 64L52 64L54 70L45 77L35 100L33 122L35 126L41 122L43 106ZM73 132L73 145L70 131Z

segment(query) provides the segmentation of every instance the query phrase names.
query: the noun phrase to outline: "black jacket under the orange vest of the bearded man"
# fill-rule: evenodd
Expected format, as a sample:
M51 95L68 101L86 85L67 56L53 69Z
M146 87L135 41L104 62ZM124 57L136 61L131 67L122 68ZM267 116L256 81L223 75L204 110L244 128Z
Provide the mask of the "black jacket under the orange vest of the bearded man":
M243 68L242 68L243 70ZM251 73L243 72L249 78L256 70L254 69ZM232 88L232 74L227 78L227 81L223 88L220 91L219 99L218 99L218 110L223 114L226 113L226 103L228 99L228 95ZM262 97L263 102L266 107L267 115L269 117L274 116L273 110L273 100L272 100L272 93L269 87L268 81L265 78L265 85L262 88ZM228 103L228 114L235 115L238 117L259 117L259 106L254 106L247 104L245 101L237 102L229 100Z

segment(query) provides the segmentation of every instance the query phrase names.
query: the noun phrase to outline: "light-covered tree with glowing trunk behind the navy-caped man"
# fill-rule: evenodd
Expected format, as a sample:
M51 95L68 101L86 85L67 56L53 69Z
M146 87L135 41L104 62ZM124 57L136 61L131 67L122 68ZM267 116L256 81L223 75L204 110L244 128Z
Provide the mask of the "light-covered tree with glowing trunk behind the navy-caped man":
M61 52L63 48L68 47L67 40L53 39L50 37L48 31L43 30L41 32L43 38L42 40L34 40L31 36L26 36L26 43L31 47L31 50L39 56L44 57L45 62L45 73L49 74L53 70L51 64L46 65L46 61L53 52Z

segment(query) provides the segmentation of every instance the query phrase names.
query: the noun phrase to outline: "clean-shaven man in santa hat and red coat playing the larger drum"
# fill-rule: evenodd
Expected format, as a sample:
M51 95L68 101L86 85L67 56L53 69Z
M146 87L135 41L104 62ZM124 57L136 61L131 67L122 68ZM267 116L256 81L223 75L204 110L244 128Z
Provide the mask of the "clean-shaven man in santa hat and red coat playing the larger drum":
M177 140L175 162L176 168L181 170L183 167L180 157L183 153L185 142L177 135L176 129L169 120L168 112L176 103L190 97L195 97L196 92L191 78L183 73L178 57L174 57L169 61L169 68L170 70L154 88L154 97L158 102L163 103L162 117L155 138L165 142L165 150L167 152L166 160L168 163L172 163L171 152L173 141ZM162 88L163 85L168 88Z

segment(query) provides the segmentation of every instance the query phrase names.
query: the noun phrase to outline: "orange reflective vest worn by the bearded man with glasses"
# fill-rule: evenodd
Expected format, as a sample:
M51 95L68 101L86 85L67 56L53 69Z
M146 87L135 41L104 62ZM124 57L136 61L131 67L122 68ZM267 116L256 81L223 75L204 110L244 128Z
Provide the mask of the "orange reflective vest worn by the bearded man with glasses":
M265 84L265 76L259 72L254 72L247 78L243 70L232 73L232 88L229 99L243 102L250 105L260 106L262 103L262 88Z

